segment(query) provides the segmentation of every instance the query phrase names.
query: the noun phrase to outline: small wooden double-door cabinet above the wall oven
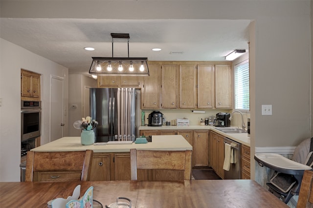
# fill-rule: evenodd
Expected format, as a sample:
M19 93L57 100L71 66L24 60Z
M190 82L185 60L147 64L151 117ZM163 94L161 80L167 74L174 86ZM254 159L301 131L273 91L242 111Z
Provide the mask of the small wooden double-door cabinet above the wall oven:
M40 101L40 76L21 69L21 100Z

